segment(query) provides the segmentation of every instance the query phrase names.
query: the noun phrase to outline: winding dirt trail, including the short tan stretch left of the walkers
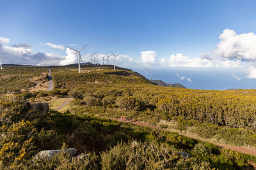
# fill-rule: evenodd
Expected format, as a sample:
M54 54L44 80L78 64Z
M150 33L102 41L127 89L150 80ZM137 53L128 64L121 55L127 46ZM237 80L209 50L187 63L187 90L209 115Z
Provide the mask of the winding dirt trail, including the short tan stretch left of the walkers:
M65 101L63 101L63 103L61 103L60 106L58 106L58 108L56 108L56 110L61 110L61 108L64 108L65 106L67 106L67 104L72 100L72 97L70 98L67 98L65 99ZM121 119L120 118L109 118L109 117L101 117L101 118L108 118L108 119L111 119L111 120L116 120L116 121L119 121L121 122ZM173 131L172 129L163 129L161 127L158 127L158 126L155 126L155 125L149 125L147 123L143 123L143 122L138 122L138 121L132 121L132 122L127 122L127 120L124 121L124 123L128 124L128 123L132 123L134 125L140 125L140 126L143 126L143 127L150 127L152 129L158 129L160 131L168 131L168 132L177 132L178 134L182 135L182 136L186 136L188 138L191 138L191 139L196 139L198 141L202 141L202 142L205 142L205 143L212 143L213 145L216 145L216 146L219 146L220 148L227 148L227 149L230 149L230 150L234 150L234 151L237 151L237 152L240 152L240 153L246 153L246 154L250 154L250 155L255 155L256 156L256 150L253 150L253 149L250 149L250 148L244 148L244 147L239 147L239 146L231 146L231 145L225 145L225 144L221 144L221 143L214 143L212 141L207 141L205 139L202 139L202 138L197 138L195 136L191 136L191 135L188 135L188 134L184 134L180 131Z

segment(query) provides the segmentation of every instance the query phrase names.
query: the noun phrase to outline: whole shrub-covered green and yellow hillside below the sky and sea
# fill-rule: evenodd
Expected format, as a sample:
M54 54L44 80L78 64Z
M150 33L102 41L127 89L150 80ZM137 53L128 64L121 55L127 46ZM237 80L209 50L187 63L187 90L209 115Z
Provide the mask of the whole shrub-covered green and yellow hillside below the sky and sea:
M31 85L23 87L15 80L24 78L28 83L29 78L42 72L47 72L47 67L4 68L0 70L1 78L17 79L9 82L11 88L2 89L11 92L28 88ZM0 98L1 169L253 169L256 158L251 155L177 132L255 148L256 90L161 87L141 74L129 69L114 71L111 66L83 65L81 74L76 65L52 67L52 77L54 90L50 92L18 90L17 98ZM74 100L65 113L59 113L35 110L19 98L24 96L31 104L54 103L59 97ZM177 132L100 118L120 116ZM40 150L67 146L89 156L77 160L62 154L52 162L33 158ZM180 152L189 153L191 158L182 157Z

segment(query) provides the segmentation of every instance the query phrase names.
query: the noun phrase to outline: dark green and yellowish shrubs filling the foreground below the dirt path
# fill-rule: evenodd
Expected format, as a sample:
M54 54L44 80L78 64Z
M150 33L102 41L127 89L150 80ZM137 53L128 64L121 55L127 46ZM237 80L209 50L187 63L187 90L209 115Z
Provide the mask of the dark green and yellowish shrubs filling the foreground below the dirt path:
M177 133L62 114L41 105L35 108L19 98L1 98L0 169L241 169L255 162L250 155L198 145L195 139ZM82 155L34 157L41 150L60 149L64 142ZM179 151L192 157L186 159Z

